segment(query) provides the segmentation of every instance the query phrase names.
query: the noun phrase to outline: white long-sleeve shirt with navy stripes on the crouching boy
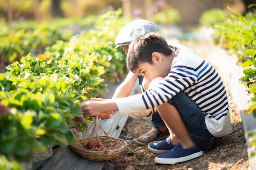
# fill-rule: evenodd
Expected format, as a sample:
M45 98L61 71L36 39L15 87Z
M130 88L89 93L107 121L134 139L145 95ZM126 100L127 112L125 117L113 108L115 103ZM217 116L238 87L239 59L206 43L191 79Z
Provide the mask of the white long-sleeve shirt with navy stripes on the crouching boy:
M133 114L157 107L183 91L205 115L209 132L216 136L232 132L227 92L218 72L207 61L184 46L173 59L168 76L142 94L119 98L121 115Z

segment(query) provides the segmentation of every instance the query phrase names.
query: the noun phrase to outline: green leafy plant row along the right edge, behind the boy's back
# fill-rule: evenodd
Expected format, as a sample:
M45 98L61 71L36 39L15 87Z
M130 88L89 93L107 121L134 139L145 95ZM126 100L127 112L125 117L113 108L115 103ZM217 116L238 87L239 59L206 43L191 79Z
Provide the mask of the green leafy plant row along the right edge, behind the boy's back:
M242 15L234 9L229 9L234 15L227 16L221 10L207 11L201 17L201 23L213 28L216 44L220 44L230 54L235 54L238 57L237 63L243 68L244 76L237 81L246 87L245 93L250 96L249 107L243 113L252 114L256 118L256 11ZM209 20L209 18L213 18L213 20ZM244 118L243 124L251 123L246 125L251 127L250 131L247 132L245 129L247 142L250 146L256 146L256 129L254 128L256 122L252 119L248 120L243 115L242 118ZM252 148L254 149L250 151L249 160L251 163L255 163L256 149Z

